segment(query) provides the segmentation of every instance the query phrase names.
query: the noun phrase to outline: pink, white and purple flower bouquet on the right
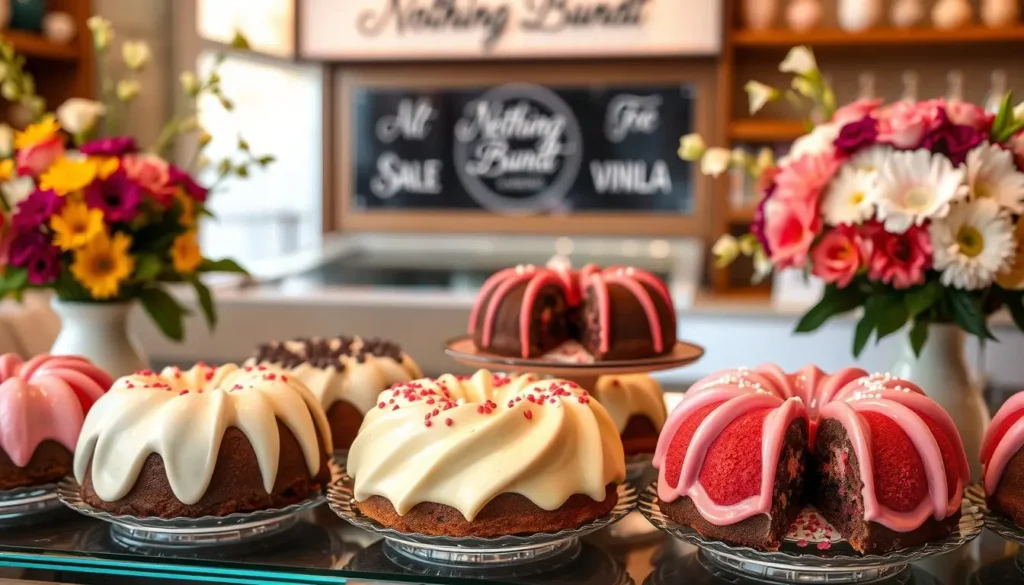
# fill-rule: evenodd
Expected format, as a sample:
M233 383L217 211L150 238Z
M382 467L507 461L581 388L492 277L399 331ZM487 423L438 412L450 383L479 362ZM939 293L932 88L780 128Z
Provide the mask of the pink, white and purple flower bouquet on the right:
M863 307L853 341L909 326L920 354L930 324L993 339L987 318L1006 306L1024 329L1024 111L1007 95L997 113L954 99L836 99L806 47L779 67L785 92L751 82L752 113L783 96L810 103L820 123L778 161L770 152L708 149L697 135L680 156L702 172L749 172L761 199L751 233L715 245L724 265L753 256L757 276L800 268L826 283L798 332Z

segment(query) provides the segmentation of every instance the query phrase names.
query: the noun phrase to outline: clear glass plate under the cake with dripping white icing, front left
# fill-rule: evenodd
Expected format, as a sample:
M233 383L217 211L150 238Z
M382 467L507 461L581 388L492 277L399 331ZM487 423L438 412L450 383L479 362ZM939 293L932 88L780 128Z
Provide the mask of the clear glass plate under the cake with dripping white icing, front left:
M238 512L225 516L139 517L117 515L95 508L82 499L81 487L71 475L57 484L57 497L69 508L111 525L111 538L134 550L173 547L222 546L251 542L295 526L298 514L326 501L316 494L284 508Z

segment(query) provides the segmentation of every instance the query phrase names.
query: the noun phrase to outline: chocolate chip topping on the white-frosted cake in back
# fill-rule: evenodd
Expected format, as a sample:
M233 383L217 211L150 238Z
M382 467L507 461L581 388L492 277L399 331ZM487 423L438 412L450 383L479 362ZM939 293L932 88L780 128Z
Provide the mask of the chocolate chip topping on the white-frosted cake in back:
M256 362L278 364L283 368L295 368L308 364L314 368L334 366L344 370L345 359L355 360L361 364L367 356L376 358L391 358L401 362L403 353L397 343L376 337L306 337L289 341L270 341L261 343L253 351Z

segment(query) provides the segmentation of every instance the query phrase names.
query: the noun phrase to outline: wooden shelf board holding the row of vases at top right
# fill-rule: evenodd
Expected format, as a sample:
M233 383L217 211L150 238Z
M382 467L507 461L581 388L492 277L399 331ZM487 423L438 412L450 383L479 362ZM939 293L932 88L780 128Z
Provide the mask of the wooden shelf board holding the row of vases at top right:
M1007 43L1024 41L1024 26L990 29L973 26L941 31L938 29L871 29L848 33L840 29L819 29L796 33L786 29L732 32L732 44L737 48L794 47L855 47L950 45L954 43Z

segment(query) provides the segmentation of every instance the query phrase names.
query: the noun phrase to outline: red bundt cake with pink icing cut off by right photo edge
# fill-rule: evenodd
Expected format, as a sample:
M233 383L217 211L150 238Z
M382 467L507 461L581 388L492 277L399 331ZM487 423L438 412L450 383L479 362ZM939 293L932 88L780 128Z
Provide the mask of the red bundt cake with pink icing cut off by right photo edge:
M1024 527L1024 392L995 413L981 443L985 499L993 512Z

